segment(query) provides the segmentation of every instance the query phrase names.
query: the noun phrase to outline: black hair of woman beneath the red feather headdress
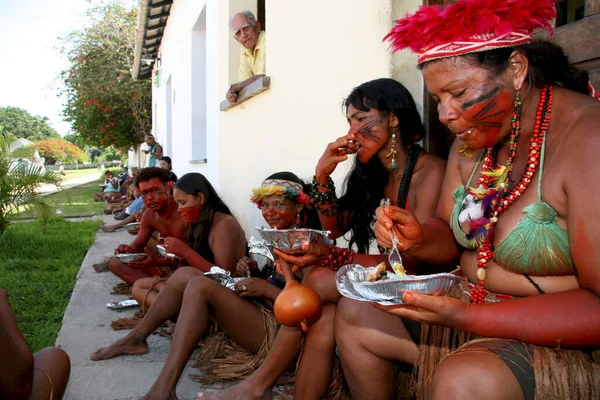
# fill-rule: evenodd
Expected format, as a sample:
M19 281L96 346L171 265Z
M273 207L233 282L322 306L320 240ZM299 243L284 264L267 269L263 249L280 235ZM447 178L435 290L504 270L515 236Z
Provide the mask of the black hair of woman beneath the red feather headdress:
M463 57L497 76L509 67L510 55L515 50L523 53L529 60L527 82L530 85L537 88L557 85L589 95L588 73L575 68L563 49L547 40L535 40L515 47L470 53Z

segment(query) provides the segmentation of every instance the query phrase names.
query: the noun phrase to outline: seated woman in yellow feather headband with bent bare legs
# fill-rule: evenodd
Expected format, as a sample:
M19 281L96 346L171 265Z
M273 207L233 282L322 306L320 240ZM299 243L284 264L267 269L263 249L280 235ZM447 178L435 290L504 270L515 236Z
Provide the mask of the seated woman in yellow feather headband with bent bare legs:
M267 178L262 187L254 191L252 201L261 208L263 217L272 228L319 227L318 218L309 217L305 208L309 200L303 182L290 172L276 173ZM305 225L311 221L317 225ZM219 240L227 242L231 238ZM252 261L243 257L244 252L243 246L236 251L241 258L236 271L242 276L246 276L248 269L252 268ZM234 272L233 265L227 267ZM233 291L205 277L202 270L181 268L167 281L137 327L124 338L96 351L90 358L104 360L120 354L144 354L148 352L147 337L167 319L178 315L167 360L143 399L176 398L177 382L198 341L206 333L209 319L216 319L220 329L234 342L258 353L270 344L277 330L271 306L279 292L277 286L260 278L239 281ZM264 356L263 351L260 353ZM259 363L260 360L257 360L252 364ZM243 369L245 366L240 367Z

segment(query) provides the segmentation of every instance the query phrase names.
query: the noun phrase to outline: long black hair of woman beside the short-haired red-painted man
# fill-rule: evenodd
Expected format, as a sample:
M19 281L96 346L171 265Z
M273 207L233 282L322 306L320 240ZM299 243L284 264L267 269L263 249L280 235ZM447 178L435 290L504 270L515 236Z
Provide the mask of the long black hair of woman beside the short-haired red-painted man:
M187 245L194 250L199 250L202 239L208 237L211 228L210 221L212 221L214 213L233 214L225 202L221 200L208 179L198 172L190 172L189 174L183 175L177 180L177 183L175 183L175 189L179 189L184 193L196 197L198 197L199 193L202 193L204 196L204 203L200 209L198 220L188 225L185 230L185 241Z

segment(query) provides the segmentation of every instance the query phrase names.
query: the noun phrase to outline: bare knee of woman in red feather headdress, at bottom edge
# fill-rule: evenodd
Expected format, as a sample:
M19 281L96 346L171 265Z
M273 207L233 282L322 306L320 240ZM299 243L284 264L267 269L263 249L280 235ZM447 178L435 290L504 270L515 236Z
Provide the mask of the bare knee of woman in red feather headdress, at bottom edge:
M467 346L446 357L433 374L432 399L524 399L506 362L488 349L495 343ZM515 353L515 357L521 356ZM530 395L533 398L533 393Z

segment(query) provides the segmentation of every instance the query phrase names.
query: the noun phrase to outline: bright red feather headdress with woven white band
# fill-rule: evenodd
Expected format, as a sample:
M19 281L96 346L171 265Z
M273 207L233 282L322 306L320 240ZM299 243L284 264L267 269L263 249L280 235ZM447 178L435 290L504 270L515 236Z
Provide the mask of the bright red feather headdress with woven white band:
M421 64L530 42L534 29L554 33L555 17L554 0L458 0L447 7L420 7L397 20L383 40L394 52L410 48Z

